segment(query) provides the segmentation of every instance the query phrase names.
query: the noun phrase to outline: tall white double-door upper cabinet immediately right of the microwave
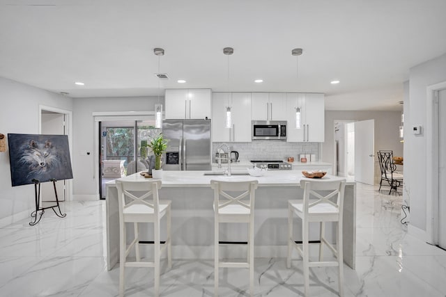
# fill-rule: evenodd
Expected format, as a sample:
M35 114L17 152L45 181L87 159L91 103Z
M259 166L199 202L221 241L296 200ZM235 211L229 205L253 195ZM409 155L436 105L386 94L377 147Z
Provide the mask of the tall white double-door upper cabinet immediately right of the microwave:
M295 109L300 108L301 127L295 129ZM325 139L324 95L318 93L287 93L286 120L288 142L323 143Z

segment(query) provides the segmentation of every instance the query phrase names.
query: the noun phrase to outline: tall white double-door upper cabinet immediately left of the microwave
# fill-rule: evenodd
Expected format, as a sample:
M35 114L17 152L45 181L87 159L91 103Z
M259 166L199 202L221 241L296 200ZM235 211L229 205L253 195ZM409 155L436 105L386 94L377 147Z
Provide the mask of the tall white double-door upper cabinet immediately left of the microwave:
M213 93L214 142L251 142L251 93ZM232 127L226 128L226 106L231 106Z

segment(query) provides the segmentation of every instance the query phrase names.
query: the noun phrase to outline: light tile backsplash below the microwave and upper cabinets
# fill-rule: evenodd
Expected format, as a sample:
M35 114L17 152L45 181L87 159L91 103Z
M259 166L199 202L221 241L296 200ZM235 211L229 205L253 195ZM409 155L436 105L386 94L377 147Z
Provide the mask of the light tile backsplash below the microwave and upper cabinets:
M223 143L213 143L213 161L217 148ZM252 141L252 143L224 143L231 150L238 152L239 161L250 160L284 160L294 156L298 161L300 154L316 154L319 160L319 143L287 143L284 141ZM222 147L226 150L226 147Z

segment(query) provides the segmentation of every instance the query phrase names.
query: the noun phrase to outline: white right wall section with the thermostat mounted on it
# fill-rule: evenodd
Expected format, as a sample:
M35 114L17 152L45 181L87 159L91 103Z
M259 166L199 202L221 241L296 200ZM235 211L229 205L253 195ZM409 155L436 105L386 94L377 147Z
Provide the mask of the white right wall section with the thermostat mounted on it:
M446 81L446 54L410 69L408 104L404 102L406 127L404 145L410 147L410 150L405 152L404 159L405 191L410 200L410 225L424 231L426 231L426 174L428 170L426 156L430 152L426 152L426 131L422 135L415 136L410 133L410 127L413 125L426 127L426 116L430 116L426 115L426 88L443 81Z

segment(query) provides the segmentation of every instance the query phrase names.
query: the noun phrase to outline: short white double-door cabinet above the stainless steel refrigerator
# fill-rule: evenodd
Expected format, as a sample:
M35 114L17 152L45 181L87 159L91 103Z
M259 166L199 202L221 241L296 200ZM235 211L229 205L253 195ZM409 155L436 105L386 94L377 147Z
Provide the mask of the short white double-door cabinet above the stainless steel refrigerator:
M164 97L165 118L210 118L210 101L210 89L167 89Z

